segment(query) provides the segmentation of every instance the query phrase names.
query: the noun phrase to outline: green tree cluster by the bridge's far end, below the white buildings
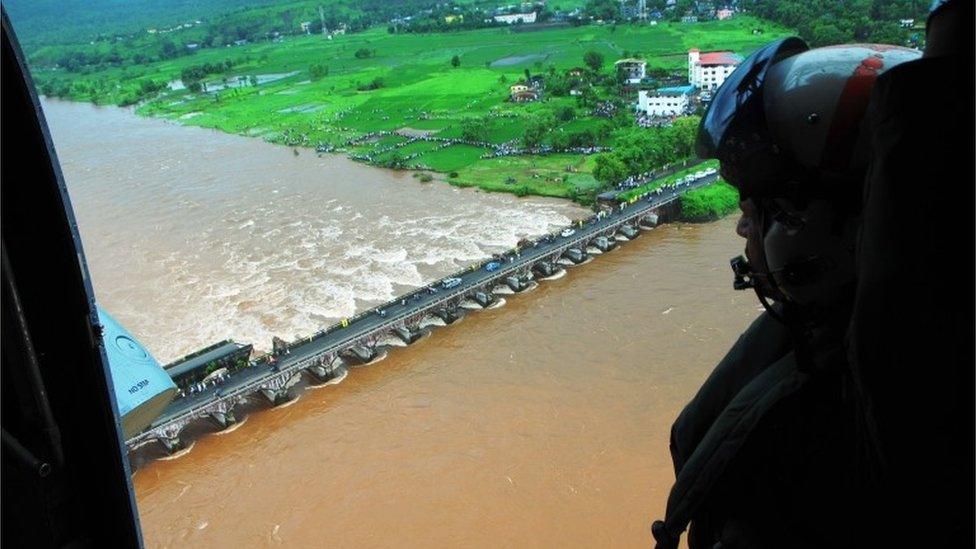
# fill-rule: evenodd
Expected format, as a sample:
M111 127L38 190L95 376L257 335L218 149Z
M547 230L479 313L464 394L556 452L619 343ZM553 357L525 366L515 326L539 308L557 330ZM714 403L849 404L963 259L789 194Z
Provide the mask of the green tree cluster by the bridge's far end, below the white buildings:
M593 177L605 185L613 185L633 174L690 157L694 154L700 121L698 116L685 116L668 127L640 130L620 137L613 152L597 155Z

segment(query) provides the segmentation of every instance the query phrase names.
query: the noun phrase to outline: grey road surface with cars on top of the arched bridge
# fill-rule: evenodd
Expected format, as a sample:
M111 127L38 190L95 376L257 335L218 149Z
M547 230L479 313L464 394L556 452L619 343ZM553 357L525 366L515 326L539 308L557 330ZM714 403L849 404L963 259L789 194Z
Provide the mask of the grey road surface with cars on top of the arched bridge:
M476 264L474 270L469 268L463 273L452 275L461 279L461 283L454 288L445 290L438 285L436 286L438 291L431 293L428 290L430 286L426 286L387 304L364 311L349 319L345 327L336 324L310 338L292 342L287 352L277 354L276 363L268 358L261 359L249 367L232 372L226 381L216 387L209 387L205 391L173 400L159 418L145 431L126 441L126 445L131 450L153 440L160 440L164 445L167 439L178 442L179 431L190 421L211 416L214 411L227 413L246 396L262 389L287 390L289 384L297 382L301 371L310 366L321 365L324 360L324 367L328 368L331 361L334 361L340 353L358 345L361 341L365 340L375 346L380 337L389 334L394 328L410 328L411 321L415 326L423 316L442 307L456 309L462 301L478 291L490 293L492 287L503 284L509 276L524 278L539 262L554 263L571 248L585 251L587 244L598 236L613 238L614 233L622 225L636 224L641 218L676 200L681 194L706 186L715 179L714 175L708 176L687 185L665 190L659 195L652 194L632 204L613 208L604 217L592 216L584 220L582 225L574 224L572 227L575 233L570 236L564 237L558 232L552 233L537 239L534 246L526 246L518 252L504 254L503 259L499 260L502 265L498 270L485 271L483 265L487 263L486 260ZM379 309L386 311L385 316L377 313ZM217 394L218 390L219 394Z

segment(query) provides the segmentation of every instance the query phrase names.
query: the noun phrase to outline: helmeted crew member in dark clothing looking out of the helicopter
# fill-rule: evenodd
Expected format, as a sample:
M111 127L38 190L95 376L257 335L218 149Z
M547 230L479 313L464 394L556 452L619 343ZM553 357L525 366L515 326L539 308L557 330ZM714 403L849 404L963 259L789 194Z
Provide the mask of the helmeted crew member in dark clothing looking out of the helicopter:
M734 287L753 289L766 312L672 427L676 480L651 529L659 549L689 526L691 549L871 539L859 531L866 451L844 346L867 164L859 127L876 77L917 57L786 38L746 59L709 105L698 155L719 160L741 200Z

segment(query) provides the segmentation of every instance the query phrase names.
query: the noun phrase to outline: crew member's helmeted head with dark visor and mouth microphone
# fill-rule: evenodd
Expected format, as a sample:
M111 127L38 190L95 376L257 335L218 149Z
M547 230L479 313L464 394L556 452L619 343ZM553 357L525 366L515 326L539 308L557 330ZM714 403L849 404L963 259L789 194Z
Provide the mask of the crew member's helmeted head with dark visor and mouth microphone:
M875 44L811 50L786 38L753 53L719 88L699 126L697 152L720 161L723 178L755 203L761 219L764 264L733 265L737 287L745 272L777 301L827 305L846 295L871 88L884 71L919 56Z

